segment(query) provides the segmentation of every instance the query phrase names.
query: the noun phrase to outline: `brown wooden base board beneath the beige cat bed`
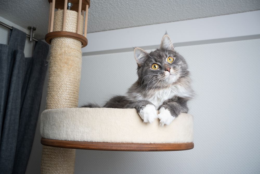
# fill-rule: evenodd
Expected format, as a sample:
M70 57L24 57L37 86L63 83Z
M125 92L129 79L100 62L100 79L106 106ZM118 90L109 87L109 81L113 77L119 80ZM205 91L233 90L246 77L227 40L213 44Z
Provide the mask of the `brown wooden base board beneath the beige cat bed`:
M194 143L105 143L41 139L42 145L100 151L184 151L194 148Z

